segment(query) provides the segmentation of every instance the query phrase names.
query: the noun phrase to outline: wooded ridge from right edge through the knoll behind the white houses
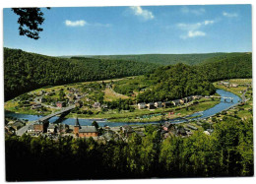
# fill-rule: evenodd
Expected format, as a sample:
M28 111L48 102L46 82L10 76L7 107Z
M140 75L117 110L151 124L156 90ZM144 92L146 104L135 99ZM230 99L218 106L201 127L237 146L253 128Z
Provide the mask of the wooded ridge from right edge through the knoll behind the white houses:
M228 56L199 66L181 63L162 66L152 74L145 75L143 81L152 90L140 93L138 101L170 100L192 94L209 95L215 92L211 82L234 78L252 78L251 53Z

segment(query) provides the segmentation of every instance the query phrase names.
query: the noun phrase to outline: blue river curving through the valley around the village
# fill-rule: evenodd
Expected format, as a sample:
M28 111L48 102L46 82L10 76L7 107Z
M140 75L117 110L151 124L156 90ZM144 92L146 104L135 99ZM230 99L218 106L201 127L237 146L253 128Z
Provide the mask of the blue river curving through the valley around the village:
M196 119L205 119L208 118L210 116L213 116L219 112L222 112L223 110L226 110L234 105L236 105L237 103L239 103L241 101L240 97L237 96L236 94L232 93L232 92L226 92L224 90L217 90L217 93L219 93L222 98L220 103L218 103L217 105L215 105L212 108L209 108L205 111L202 112L196 112L194 114L191 114L187 117L190 117L192 120L196 120ZM226 99L226 101L224 101L224 96L225 97L233 97L232 102L230 101L230 99ZM12 116L12 117L16 117L19 119L27 119L29 121L35 121L37 119L39 119L42 116L38 116L38 115L30 115L30 114L19 114L19 113L13 113L13 112L7 112L5 114L6 116ZM200 115L200 117L198 117ZM195 117L197 116L197 117ZM193 118L195 117L195 118ZM54 123L55 121L57 121L59 119L59 117L52 117L51 119L49 119L50 123ZM92 122L94 121L94 119L79 119L80 125L92 125ZM184 118L176 118L176 119L172 119L169 120L172 123L182 123L187 121ZM133 123L128 123L128 122L109 122L107 120L100 120L100 121L96 121L97 124L100 127L103 127L105 125L109 126L109 127L117 127L117 126L123 126L123 125L145 125L145 124L158 124L158 123L162 123L160 121L157 122L133 122ZM74 125L75 124L75 118L65 118L62 123L67 124L67 125Z

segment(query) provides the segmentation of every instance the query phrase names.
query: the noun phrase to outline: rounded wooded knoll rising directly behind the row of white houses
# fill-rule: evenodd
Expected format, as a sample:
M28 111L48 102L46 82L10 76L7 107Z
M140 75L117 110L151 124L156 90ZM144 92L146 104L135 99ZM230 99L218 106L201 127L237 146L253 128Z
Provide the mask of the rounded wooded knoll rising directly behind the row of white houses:
M194 94L209 95L215 92L215 87L205 80L202 72L196 67L184 64L160 67L145 78L145 81L151 83L152 90L140 93L137 97L138 101L167 101Z

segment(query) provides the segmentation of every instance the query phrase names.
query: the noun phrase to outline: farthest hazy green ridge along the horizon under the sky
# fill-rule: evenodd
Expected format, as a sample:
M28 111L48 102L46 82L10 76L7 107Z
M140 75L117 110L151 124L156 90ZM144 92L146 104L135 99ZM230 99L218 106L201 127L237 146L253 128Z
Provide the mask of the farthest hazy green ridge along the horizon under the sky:
M184 63L187 65L197 65L201 63L218 61L230 56L241 55L243 53L203 53L203 54L141 54L141 55L96 55L96 56L76 56L91 57L99 59L138 61L147 63L157 63L160 65L173 65ZM63 56L64 57L64 56ZM74 57L74 56L73 56Z

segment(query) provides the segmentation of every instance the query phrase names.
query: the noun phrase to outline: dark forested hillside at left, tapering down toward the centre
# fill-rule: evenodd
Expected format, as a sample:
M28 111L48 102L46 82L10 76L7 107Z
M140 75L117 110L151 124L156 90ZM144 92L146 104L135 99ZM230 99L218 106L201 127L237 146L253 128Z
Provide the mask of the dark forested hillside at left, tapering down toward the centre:
M142 75L157 67L135 61L64 59L4 48L5 100L45 86Z

